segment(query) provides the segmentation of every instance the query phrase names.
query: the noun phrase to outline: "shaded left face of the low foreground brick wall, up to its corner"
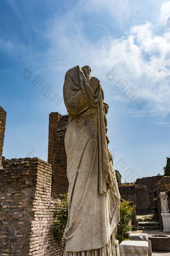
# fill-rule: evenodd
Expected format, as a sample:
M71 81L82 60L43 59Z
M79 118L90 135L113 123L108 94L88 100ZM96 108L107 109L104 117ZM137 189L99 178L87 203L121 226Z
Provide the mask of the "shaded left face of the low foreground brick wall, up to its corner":
M26 160L6 160L0 170L1 255L23 255L29 250L30 198L33 197L35 179Z

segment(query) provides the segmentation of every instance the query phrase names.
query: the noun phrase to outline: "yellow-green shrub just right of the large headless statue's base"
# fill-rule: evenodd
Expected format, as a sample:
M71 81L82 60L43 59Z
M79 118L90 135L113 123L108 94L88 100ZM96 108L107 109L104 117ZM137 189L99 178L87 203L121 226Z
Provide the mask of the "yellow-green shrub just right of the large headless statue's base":
M119 243L128 239L129 231L132 229L132 226L129 226L129 221L134 211L135 205L129 206L128 201L124 200L120 203L120 222L117 225L117 233L115 236Z

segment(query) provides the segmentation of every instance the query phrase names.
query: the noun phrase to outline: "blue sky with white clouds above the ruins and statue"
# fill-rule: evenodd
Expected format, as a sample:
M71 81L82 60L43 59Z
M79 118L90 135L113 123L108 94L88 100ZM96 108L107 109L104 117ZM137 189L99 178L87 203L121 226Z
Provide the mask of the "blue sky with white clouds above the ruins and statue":
M169 1L0 1L3 155L47 160L48 115L66 114L64 75L100 80L114 167L128 182L163 174L169 156Z

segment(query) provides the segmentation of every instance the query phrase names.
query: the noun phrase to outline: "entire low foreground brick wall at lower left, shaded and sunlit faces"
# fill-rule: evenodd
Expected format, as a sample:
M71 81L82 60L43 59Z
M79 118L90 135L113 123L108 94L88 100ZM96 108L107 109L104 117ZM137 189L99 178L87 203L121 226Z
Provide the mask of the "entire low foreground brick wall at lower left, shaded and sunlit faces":
M0 255L61 256L53 237L59 207L51 198L51 166L39 158L10 159L0 170Z

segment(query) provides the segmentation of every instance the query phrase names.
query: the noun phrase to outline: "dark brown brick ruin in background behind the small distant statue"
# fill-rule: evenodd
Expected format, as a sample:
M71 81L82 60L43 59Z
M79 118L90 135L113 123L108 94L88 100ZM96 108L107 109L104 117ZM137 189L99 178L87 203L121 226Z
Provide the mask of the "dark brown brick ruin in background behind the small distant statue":
M151 214L152 208L156 208L156 218L163 229L160 206L160 192L168 195L168 207L170 209L170 176L152 176L137 179L133 184L122 184L118 186L121 198L134 202L136 214Z

